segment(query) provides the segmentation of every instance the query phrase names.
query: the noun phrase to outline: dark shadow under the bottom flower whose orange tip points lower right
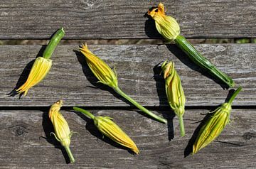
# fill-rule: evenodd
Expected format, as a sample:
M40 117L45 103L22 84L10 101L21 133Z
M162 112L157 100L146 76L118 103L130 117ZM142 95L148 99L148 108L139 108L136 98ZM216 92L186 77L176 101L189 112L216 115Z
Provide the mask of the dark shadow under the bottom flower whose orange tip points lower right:
M85 109L84 107L80 107L82 109ZM128 151L131 154L134 154L133 151L131 151L129 148L126 148L124 146L119 145L118 143L112 141L110 138L108 138L107 136L102 135L102 133L100 133L100 131L97 129L97 127L94 124L94 121L92 119L87 118L87 116L85 116L84 114L78 112L78 111L72 111L70 110L70 112L74 112L75 114L77 114L78 116L80 116L81 119L86 121L86 125L85 125L85 129L87 131L90 132L90 134L92 134L92 136L97 137L98 139L100 139L101 141L104 141L105 143L110 144L111 146L114 146L116 148L120 148L123 150ZM93 114L93 113L92 113ZM127 133L127 135L129 136L129 133Z

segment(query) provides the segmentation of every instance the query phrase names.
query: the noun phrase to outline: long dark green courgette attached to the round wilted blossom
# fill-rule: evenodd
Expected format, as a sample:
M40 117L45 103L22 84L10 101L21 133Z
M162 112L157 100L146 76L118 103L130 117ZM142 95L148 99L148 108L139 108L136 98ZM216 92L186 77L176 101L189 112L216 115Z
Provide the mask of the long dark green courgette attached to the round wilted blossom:
M204 58L203 55L198 53L198 51L193 47L193 45L191 45L191 43L188 42L188 40L186 40L186 38L183 36L177 36L174 41L176 45L178 45L178 48L181 48L181 50L188 55L188 58L195 62L196 65L203 68L211 75L217 77L218 80L221 80L221 82L228 84L229 87L235 86L235 82L228 77L228 75L225 75L224 72L218 70L208 59Z

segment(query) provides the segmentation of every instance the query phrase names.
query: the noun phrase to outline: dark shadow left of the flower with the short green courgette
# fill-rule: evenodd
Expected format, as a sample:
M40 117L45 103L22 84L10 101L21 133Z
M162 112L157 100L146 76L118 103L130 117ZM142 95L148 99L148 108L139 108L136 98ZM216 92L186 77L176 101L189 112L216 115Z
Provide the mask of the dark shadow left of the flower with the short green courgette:
M41 49L39 50L38 54L36 55L36 58L40 57L43 55L43 51L46 49L46 45L43 45L41 47ZM18 81L16 83L16 87L14 87L14 89L9 93L6 94L9 97L15 97L16 94L18 94L18 92L16 91L16 89L18 89L19 87L22 86L22 84L24 84L26 82L26 80L28 79L28 75L31 71L31 68L33 66L33 63L35 62L36 59L31 60L30 62L28 62L28 64L26 65L26 67L23 69L23 71L21 72L20 77L18 78ZM19 94L19 99L21 99L21 96L23 95L23 93Z

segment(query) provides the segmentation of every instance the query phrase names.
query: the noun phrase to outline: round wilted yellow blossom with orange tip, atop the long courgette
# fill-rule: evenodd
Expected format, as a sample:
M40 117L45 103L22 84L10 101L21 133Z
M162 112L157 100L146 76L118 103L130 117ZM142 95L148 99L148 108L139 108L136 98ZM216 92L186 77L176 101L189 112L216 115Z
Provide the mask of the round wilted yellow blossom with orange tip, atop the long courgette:
M154 19L157 31L167 40L174 40L180 34L180 27L175 18L165 15L164 4L160 3L156 8L149 10L148 15Z

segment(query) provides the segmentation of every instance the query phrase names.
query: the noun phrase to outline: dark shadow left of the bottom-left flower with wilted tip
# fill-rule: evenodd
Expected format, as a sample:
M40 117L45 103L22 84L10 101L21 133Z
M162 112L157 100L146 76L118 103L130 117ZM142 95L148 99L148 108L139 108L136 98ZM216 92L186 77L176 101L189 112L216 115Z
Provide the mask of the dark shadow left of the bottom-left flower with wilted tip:
M54 128L53 128L53 124L49 119L48 111L43 111L42 126L43 126L43 131L46 134L46 141L52 144L55 148L60 149L60 151L63 153L63 156L65 158L65 162L70 163L70 159L68 157L68 153L65 151L65 148L61 146L60 142L58 142L53 135L50 134L52 132L54 133ZM42 136L41 138L45 138L45 137Z

